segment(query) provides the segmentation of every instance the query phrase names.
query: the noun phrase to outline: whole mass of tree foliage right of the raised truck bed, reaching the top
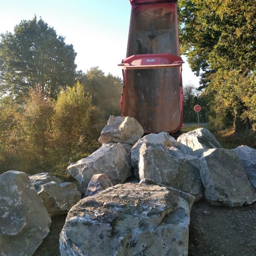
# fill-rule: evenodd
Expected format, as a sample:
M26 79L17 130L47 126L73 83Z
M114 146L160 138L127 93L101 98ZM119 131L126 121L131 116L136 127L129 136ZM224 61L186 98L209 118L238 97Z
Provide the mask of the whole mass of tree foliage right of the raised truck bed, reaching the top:
M256 130L256 0L179 0L178 6L181 53L201 75L210 121Z

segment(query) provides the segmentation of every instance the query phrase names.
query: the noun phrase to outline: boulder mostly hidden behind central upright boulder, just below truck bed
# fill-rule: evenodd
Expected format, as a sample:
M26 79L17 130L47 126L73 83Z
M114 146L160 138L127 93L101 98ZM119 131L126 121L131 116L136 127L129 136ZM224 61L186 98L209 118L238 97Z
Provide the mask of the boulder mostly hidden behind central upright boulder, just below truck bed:
M161 144L164 148L178 145L174 137L170 136L167 132L160 132L159 134L148 134L137 141L131 149L131 163L134 168L134 175L139 179L139 157L140 147L143 143Z

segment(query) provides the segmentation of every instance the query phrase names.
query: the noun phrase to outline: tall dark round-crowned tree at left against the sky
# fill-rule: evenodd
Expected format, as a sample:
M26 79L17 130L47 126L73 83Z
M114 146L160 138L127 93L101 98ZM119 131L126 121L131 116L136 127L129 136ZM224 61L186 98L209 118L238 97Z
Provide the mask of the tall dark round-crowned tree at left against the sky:
M72 44L42 19L22 20L14 33L0 36L0 93L16 100L28 95L29 88L40 87L49 97L72 85L76 77L76 52Z

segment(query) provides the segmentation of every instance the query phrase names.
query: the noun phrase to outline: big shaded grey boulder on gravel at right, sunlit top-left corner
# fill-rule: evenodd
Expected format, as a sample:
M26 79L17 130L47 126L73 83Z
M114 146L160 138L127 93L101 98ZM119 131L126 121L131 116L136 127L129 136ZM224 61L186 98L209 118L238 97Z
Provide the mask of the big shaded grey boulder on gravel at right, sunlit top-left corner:
M205 187L205 198L214 205L230 207L252 204L256 193L236 152L213 148L199 159L201 179Z

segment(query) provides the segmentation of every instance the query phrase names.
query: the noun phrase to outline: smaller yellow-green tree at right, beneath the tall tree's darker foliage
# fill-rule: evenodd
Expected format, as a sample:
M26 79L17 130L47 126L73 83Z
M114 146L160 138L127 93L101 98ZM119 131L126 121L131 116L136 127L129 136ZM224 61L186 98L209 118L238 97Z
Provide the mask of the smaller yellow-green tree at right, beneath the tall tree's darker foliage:
M244 77L238 71L219 70L207 87L206 95L211 106L211 122L224 129L232 124L235 132L256 130L256 81L255 77Z

